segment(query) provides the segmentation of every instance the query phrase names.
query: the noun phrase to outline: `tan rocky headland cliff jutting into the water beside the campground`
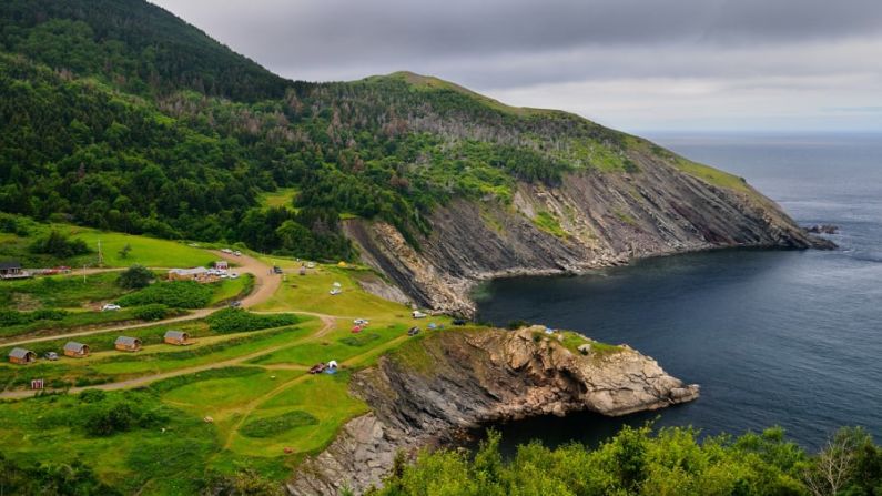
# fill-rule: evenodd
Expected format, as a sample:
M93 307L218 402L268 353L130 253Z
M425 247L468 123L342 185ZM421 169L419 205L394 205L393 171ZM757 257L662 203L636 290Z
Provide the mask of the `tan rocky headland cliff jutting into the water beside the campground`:
M304 462L290 493L362 492L381 480L398 451L413 454L488 422L582 409L624 415L698 397L698 386L627 346L586 341L591 351L584 354L561 337L538 328L448 331L407 343L356 374L353 393L372 413Z

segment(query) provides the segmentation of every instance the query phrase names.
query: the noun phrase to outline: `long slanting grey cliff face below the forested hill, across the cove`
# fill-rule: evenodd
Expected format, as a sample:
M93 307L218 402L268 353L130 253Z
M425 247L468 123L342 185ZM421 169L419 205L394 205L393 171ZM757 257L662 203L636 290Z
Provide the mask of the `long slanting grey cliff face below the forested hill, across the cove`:
M434 212L419 251L388 224L345 229L362 259L415 303L462 314L475 310L468 289L495 276L728 246L824 246L738 178L652 150L628 151L633 172L582 171L554 188L521 183L511 204L455 200Z

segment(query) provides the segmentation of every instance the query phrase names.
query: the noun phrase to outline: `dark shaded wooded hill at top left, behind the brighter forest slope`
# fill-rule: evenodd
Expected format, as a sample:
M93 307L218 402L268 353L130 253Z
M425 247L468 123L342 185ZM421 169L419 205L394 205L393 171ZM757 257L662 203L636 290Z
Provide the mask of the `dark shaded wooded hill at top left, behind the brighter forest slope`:
M288 82L145 1L4 0L0 45L62 73L136 94L192 89L256 101Z

